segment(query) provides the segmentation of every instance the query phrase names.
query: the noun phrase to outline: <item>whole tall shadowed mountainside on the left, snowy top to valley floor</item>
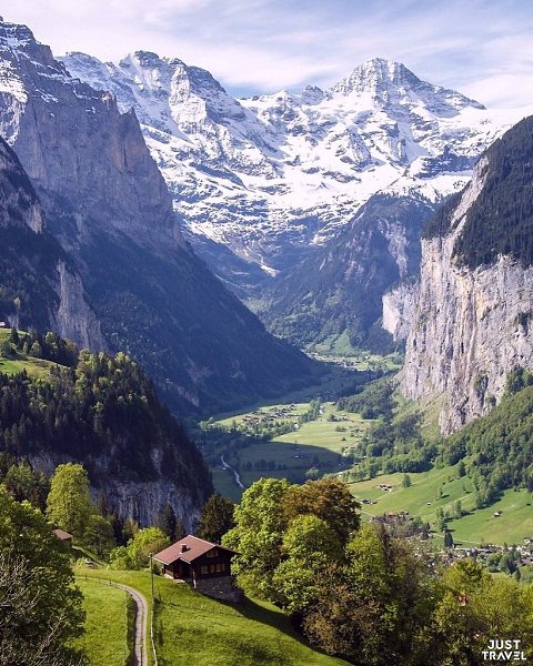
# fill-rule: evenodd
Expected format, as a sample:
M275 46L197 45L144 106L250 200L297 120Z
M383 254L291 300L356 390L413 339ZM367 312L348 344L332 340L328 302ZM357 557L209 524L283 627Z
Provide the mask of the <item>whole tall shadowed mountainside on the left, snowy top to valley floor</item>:
M219 118L222 101L205 122ZM11 23L0 23L0 133L81 275L105 345L134 356L172 407L228 408L309 376L310 361L269 335L184 242L134 111L121 113L113 94L73 79L28 28ZM71 264L54 321L78 335Z

